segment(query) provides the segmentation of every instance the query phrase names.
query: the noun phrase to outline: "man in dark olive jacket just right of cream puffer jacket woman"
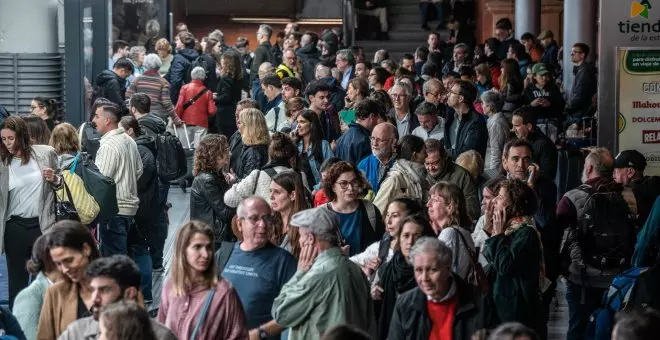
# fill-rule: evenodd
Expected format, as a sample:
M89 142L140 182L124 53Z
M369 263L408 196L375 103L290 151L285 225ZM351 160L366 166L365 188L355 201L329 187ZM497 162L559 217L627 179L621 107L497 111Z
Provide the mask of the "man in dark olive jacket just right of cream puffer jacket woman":
M470 173L447 157L447 151L439 140L427 139L425 144L426 159L424 160L424 167L426 168L426 180L429 185L432 186L441 181L456 184L463 191L470 219L477 220L481 212L479 197L477 196L477 187Z

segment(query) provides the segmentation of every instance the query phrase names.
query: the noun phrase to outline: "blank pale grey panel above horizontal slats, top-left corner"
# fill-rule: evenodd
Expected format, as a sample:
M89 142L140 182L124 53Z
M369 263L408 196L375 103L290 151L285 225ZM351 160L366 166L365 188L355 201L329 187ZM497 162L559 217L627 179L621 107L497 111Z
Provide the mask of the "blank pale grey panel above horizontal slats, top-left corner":
M58 0L1 0L0 53L57 53Z

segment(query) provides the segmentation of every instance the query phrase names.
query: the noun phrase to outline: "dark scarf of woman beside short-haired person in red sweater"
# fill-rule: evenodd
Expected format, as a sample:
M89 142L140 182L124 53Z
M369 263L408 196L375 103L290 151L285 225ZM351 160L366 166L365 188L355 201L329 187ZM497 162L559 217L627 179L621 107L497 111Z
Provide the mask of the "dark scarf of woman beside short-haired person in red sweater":
M390 262L381 267L378 274L380 276L380 286L383 288L383 299L380 316L378 317L377 339L385 340L390 329L390 320L392 319L397 296L415 288L417 282L415 281L413 266L408 263L400 250L394 253L394 257Z

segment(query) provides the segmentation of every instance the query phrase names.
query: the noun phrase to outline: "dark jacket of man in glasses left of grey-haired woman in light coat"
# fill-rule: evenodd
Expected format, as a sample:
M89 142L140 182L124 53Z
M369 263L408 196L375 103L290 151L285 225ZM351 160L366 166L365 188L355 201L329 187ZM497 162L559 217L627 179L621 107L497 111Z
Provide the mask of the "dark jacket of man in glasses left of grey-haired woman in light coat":
M456 134L456 144L453 146L449 136L451 136L451 125L456 116L447 115L445 119L444 144L449 157L455 160L458 155L468 150L476 150L481 154L481 157L485 157L486 145L488 144L488 128L486 128L486 122L477 111L470 109L460 121L458 133Z

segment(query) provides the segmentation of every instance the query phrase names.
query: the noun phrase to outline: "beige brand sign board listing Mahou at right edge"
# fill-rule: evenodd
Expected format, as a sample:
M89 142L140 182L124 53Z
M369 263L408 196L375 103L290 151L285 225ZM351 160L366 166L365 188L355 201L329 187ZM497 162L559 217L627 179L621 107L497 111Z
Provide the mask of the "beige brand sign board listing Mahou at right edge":
M660 175L660 49L618 49L618 144L637 150L645 175Z

